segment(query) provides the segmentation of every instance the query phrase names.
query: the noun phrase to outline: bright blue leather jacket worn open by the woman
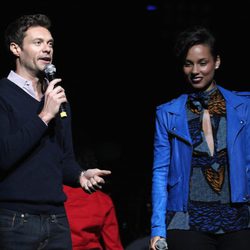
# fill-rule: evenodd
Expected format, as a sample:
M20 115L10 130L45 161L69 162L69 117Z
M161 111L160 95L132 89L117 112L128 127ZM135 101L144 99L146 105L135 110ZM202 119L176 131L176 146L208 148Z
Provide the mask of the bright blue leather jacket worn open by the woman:
M250 98L217 86L226 100L227 150L232 202L250 201ZM248 96L249 95L249 96ZM187 94L156 110L152 177L151 236L166 237L166 211L186 211L192 141L186 116Z

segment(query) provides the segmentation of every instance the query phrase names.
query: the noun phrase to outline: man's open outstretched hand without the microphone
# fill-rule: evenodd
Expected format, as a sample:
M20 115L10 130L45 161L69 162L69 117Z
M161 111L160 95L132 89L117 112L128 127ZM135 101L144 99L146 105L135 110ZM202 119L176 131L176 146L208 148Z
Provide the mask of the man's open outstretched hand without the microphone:
M80 184L83 190L89 194L101 189L105 180L102 176L110 175L111 171L101 170L98 168L88 169L83 171L80 175Z

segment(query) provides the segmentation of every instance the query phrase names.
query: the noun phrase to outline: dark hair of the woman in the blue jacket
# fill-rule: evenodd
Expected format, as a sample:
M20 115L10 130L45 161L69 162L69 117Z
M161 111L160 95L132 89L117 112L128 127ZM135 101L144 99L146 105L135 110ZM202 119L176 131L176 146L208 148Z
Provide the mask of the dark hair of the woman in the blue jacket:
M211 31L200 25L187 28L179 33L175 43L175 55L179 63L183 64L188 50L198 44L206 44L210 48L211 54L216 59L218 56L217 44Z

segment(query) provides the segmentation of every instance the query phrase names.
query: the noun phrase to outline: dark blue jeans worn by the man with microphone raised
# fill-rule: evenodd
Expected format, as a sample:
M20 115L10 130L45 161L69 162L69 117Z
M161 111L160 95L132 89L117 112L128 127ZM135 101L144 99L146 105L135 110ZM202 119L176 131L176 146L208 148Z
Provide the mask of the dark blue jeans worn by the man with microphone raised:
M1 250L72 250L66 214L34 215L0 209Z

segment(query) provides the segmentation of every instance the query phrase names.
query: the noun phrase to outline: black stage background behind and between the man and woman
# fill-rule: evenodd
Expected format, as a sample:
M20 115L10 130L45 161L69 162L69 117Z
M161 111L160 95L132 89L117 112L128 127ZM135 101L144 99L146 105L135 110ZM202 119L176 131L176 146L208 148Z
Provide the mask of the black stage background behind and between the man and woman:
M91 149L100 167L112 170L104 189L115 203L124 246L148 235L155 107L176 97L185 84L172 54L174 38L192 24L209 27L221 45L217 83L249 91L247 2L37 0L5 5L0 76L10 70L3 45L6 25L23 14L47 14L55 38L54 64L72 106L76 154Z

